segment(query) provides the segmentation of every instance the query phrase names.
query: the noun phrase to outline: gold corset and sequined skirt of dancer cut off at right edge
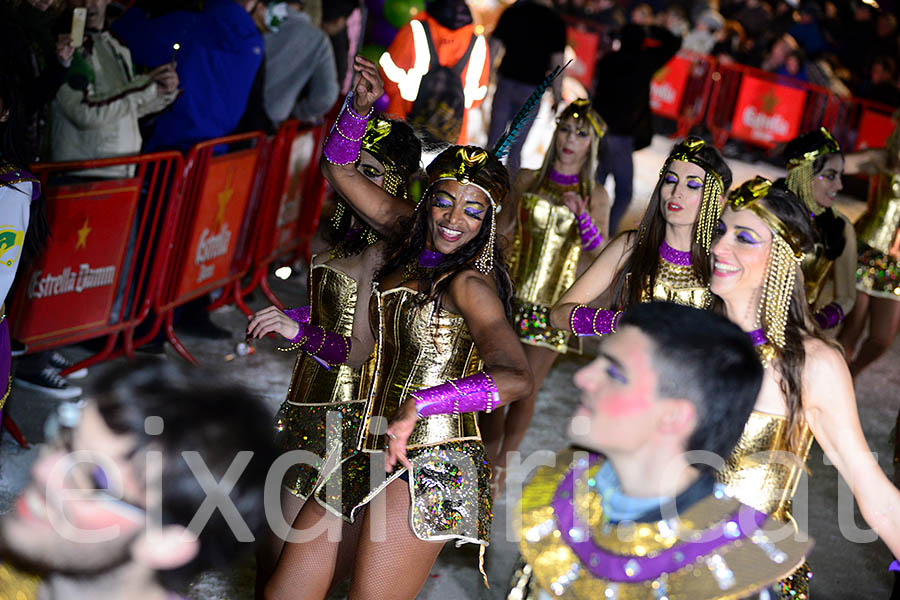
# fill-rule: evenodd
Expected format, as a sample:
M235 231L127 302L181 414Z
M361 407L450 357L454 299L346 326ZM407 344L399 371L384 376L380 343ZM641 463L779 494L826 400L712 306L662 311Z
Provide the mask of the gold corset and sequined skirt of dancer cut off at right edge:
M869 197L869 209L856 223L856 289L870 296L900 300L900 265L888 255L900 228L900 174L874 177Z

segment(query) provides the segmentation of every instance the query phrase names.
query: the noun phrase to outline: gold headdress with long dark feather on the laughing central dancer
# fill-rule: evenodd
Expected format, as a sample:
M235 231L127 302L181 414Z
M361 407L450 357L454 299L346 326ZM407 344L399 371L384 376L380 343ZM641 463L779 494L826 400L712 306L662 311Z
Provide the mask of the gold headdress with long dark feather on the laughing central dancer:
M416 210L418 210L422 205L422 200L429 196L432 186L439 181L452 180L460 185L474 185L487 195L491 204L491 231L487 241L478 252L474 261L474 267L480 273L485 275L494 269L494 244L496 243L497 238L497 213L500 210L501 203L505 199L509 186L508 183L504 184L496 181L492 177L488 177L484 172L484 167L487 166L491 155L497 160L506 156L512 148L513 142L515 142L522 132L522 127L534 118L535 108L540 102L541 97L544 95L544 92L547 91L553 83L553 80L556 79L564 68L564 66L557 66L544 78L540 85L535 88L531 96L528 97L528 100L525 101L525 104L522 105L522 108L519 109L519 112L516 113L516 116L509 124L509 127L507 127L506 131L500 136L500 139L497 140L497 143L494 144L494 147L490 151L477 146L451 146L445 150L444 152L455 151L454 160L448 163L444 168L429 172L428 189L425 190L425 193L422 194L422 198L419 200L419 204L416 205ZM443 155L444 152L441 154Z

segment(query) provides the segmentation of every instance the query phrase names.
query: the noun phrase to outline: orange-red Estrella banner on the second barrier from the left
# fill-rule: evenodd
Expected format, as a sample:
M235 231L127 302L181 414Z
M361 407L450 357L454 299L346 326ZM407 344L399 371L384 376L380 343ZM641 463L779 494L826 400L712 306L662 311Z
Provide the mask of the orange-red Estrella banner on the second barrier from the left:
M258 150L244 150L209 161L195 199L197 208L176 297L229 275L258 158Z

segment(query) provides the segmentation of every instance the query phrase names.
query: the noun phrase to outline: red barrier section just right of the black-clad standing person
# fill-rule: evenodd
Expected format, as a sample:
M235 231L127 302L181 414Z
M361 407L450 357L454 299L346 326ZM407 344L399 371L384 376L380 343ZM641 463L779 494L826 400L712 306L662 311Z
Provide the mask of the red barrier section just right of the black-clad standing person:
M675 121L676 137L686 136L706 115L715 61L711 56L682 50L656 72L650 82L650 109Z

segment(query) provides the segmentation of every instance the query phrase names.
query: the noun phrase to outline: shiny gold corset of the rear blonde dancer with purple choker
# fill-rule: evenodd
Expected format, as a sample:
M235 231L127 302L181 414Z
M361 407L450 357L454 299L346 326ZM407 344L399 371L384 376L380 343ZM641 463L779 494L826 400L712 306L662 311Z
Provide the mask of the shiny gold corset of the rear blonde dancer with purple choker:
M541 185L522 194L518 215L518 258L511 272L516 298L552 306L575 283L581 241L575 213L562 204L562 194L578 185Z

